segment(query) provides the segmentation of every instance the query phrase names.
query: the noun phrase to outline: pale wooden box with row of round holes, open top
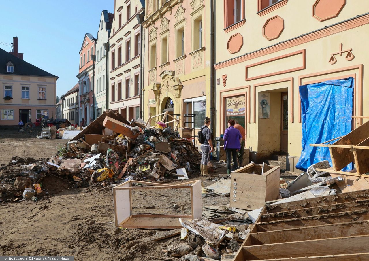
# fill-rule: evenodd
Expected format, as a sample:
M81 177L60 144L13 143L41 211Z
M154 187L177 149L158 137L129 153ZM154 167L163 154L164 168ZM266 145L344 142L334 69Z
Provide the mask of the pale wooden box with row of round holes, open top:
M258 209L279 196L280 166L248 164L231 173L231 208Z

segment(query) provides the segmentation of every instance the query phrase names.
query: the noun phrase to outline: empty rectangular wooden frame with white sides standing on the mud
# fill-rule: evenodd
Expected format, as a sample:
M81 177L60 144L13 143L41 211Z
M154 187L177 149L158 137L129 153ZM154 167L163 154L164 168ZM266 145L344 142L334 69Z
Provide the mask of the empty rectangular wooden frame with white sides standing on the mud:
M132 187L132 183L140 183L145 187ZM191 193L191 215L134 215L132 214L132 190L146 189L186 189ZM159 184L129 180L113 188L114 217L116 227L143 229L176 229L182 228L179 217L195 219L202 216L201 180L189 181L178 185Z

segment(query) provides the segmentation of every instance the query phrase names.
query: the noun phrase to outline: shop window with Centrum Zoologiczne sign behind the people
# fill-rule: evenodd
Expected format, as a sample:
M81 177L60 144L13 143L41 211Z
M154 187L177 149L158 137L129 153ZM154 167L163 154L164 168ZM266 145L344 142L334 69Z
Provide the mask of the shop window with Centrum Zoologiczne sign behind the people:
M228 128L227 122L230 119L238 121L239 125L245 127L246 98L238 96L225 99L225 129Z

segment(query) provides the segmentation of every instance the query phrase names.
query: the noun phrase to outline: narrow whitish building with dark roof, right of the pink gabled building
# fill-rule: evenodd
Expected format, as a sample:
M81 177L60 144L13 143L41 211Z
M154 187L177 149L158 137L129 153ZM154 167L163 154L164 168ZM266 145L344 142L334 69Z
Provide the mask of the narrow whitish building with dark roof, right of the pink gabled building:
M94 86L94 110L95 118L99 117L103 111L108 109L107 86L109 81L108 51L111 24L113 23L113 13L103 10L101 12L99 31L97 31L96 42L96 62L95 62L95 86Z

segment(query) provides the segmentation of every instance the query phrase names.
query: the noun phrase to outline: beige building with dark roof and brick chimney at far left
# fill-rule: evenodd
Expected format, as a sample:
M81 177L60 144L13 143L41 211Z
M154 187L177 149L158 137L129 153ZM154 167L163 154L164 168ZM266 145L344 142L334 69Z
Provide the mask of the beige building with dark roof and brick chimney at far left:
M18 125L35 122L42 115L55 118L56 80L48 73L23 60L18 53L18 38L13 40L14 50L0 49L0 125Z

